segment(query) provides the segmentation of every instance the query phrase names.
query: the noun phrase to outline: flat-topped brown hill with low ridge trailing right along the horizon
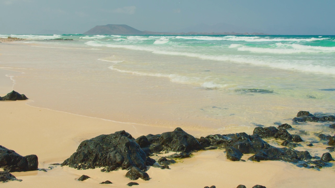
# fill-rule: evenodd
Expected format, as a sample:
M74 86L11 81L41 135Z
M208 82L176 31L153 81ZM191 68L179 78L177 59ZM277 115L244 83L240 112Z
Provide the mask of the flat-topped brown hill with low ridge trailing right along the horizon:
M86 35L146 35L146 34L157 34L157 35L269 35L264 33L236 33L236 32L221 32L221 33L206 33L206 32L188 32L188 33L173 33L173 32L153 32L153 31L140 31L128 25L118 24L107 24L97 25L92 29L84 32Z

